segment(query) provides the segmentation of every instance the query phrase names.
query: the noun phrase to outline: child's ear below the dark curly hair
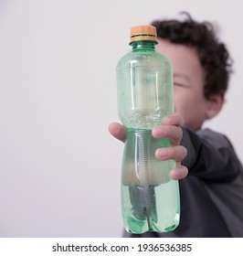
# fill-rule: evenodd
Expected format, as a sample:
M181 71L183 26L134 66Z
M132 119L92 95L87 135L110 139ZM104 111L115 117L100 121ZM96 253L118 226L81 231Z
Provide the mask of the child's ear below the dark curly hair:
M207 99L206 118L211 119L215 117L217 113L221 111L224 102L225 102L224 91L209 96L209 98Z

